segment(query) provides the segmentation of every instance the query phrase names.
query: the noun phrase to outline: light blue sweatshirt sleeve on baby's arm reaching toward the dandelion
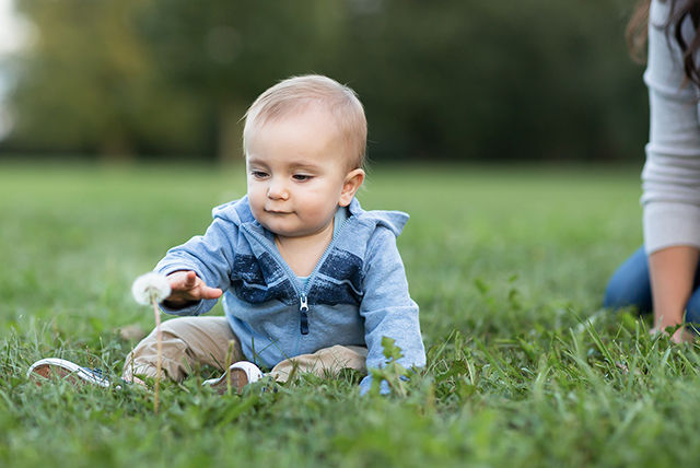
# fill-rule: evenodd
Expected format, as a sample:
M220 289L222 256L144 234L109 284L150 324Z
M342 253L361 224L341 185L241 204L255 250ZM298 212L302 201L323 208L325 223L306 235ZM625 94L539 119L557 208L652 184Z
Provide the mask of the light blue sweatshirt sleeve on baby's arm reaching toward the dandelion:
M195 236L185 244L171 248L154 271L170 274L178 270L192 270L208 286L225 291L231 285L234 258L231 239L236 238L236 232L235 224L215 218L205 235ZM173 309L163 305L161 308L173 315L201 315L209 312L217 300L202 300L184 308Z

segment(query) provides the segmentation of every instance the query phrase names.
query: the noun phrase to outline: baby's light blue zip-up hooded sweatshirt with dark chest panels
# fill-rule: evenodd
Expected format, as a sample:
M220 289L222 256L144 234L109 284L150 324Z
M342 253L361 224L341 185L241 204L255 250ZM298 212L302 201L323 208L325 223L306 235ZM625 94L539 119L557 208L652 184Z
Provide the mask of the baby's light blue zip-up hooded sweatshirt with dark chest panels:
M396 247L408 214L364 211L357 199L308 280L287 265L275 235L258 223L247 197L214 208L205 235L167 251L155 270L192 270L224 291L223 307L243 353L258 365L323 348L366 346L368 368L386 363L382 338L395 340L405 367L425 365L418 305L408 293ZM168 314L200 315L217 300L202 300ZM371 387L368 375L362 394ZM384 387L386 390L386 387Z

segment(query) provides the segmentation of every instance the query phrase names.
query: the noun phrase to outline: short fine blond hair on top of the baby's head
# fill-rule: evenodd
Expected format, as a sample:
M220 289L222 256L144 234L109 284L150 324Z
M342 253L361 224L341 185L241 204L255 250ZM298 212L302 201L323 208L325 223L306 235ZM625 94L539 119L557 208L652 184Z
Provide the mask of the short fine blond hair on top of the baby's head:
M326 109L335 118L341 138L348 144L351 168L364 164L368 121L362 103L350 87L319 74L291 77L265 91L245 113L243 150L250 131L265 124L305 110L311 105Z

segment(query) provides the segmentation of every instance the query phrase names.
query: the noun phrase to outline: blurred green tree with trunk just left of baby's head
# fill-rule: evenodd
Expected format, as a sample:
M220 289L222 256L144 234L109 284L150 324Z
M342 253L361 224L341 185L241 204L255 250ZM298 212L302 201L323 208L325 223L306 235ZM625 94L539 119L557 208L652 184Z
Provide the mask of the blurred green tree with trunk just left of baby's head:
M166 12L166 13L164 13ZM153 0L142 32L164 72L210 103L219 156L242 154L241 118L265 89L339 60L343 1Z

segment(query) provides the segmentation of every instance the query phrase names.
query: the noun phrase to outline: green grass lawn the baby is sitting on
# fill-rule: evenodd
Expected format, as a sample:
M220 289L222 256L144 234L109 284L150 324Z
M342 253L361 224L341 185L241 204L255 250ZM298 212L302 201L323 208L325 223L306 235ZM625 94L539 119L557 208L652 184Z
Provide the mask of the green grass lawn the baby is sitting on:
M428 367L408 396L360 397L348 373L218 397L196 376L154 414L138 388L24 373L57 355L117 377L119 328L153 326L131 281L244 194L242 169L0 165L0 465L697 464L699 349L600 311L641 243L638 174L377 167L364 208L411 214L399 248Z

